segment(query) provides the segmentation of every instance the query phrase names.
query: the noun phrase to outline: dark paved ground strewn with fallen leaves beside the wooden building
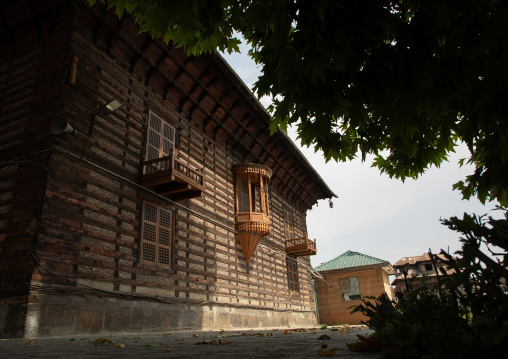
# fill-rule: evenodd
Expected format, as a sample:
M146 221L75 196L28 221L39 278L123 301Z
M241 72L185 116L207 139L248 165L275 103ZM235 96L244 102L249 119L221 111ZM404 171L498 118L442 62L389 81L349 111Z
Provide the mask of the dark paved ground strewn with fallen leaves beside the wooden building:
M380 351L353 352L346 343L362 326L212 332L86 335L41 339L0 339L2 358L384 358ZM321 338L327 335L330 339ZM94 345L103 342L102 345ZM113 344L114 343L114 344ZM199 344L198 343L202 343ZM326 345L320 355L321 346ZM337 348L336 350L330 350Z

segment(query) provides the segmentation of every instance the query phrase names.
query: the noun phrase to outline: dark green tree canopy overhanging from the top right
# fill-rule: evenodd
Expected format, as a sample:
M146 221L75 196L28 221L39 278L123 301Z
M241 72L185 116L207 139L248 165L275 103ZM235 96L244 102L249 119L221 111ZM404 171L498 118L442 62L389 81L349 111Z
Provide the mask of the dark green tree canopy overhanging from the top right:
M87 0L93 4L96 0ZM100 0L104 2L105 0ZM238 51L261 66L272 132L296 125L327 160L375 156L404 180L464 142L468 199L508 204L508 1L108 0L188 54Z

